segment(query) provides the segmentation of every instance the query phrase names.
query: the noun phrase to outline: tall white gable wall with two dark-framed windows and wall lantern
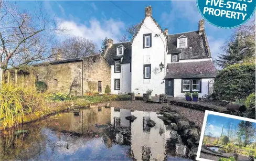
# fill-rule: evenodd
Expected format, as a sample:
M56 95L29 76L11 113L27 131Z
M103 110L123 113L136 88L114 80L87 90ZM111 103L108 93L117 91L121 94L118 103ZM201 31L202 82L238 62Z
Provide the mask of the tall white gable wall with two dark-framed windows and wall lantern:
M161 30L151 17L146 17L143 25L132 42L131 91L135 92L135 95L138 93L143 95L147 89L151 89L153 90L152 95L164 94L165 70L160 71L159 64L162 62L166 69L166 37L161 33ZM143 34L150 33L152 34L152 47L143 48ZM155 37L155 34L160 34L160 36ZM151 64L151 79L143 78L143 65L145 64Z

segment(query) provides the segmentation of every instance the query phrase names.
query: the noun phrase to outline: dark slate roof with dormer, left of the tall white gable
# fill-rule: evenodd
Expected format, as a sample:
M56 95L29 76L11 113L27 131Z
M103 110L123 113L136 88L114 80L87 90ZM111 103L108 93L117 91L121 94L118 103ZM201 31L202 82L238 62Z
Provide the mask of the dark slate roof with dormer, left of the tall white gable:
M116 48L120 45L124 46L124 54L117 56ZM131 42L120 42L117 44L113 44L111 48L106 51L104 58L108 61L109 65L114 65L115 59L121 59L121 64L130 63L130 58L132 57L132 46Z

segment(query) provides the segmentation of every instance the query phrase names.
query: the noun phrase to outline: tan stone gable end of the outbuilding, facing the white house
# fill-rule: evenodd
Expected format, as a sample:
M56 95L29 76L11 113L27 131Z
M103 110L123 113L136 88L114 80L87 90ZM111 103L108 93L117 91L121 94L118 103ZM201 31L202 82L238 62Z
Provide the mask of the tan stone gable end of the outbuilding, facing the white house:
M83 61L83 93L90 91L90 82L97 84L94 91L98 91L98 82L102 82L101 93L105 93L106 85L111 89L111 68L100 55L86 57Z

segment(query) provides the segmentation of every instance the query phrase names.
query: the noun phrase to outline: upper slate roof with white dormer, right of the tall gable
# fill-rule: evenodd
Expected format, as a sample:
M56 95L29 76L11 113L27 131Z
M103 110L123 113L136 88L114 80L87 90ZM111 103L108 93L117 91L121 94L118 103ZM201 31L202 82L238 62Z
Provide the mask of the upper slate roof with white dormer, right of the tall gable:
M187 48L177 48L177 38L187 37ZM210 58L206 47L204 34L199 35L199 31L168 35L168 53L179 53L180 60Z

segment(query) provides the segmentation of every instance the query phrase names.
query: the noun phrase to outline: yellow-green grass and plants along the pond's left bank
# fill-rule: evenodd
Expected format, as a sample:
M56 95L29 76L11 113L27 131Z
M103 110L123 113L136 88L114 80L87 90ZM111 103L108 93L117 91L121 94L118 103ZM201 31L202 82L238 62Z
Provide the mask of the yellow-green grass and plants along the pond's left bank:
M63 93L47 95L37 92L35 87L22 88L12 83L2 84L0 130L67 110L72 104L83 108L94 103L120 100L130 100L130 95L71 96Z

